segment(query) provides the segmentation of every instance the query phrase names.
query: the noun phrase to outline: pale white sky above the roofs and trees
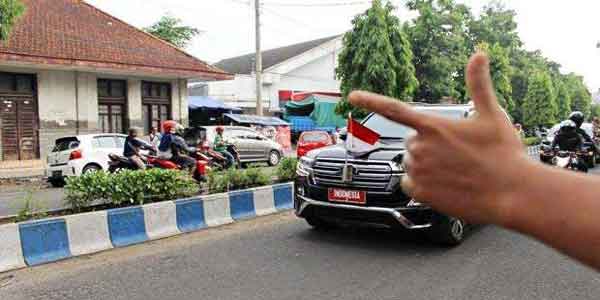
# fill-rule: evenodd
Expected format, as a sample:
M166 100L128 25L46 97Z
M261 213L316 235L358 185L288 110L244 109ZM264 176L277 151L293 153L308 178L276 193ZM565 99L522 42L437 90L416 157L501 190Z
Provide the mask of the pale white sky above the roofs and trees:
M248 0L86 0L132 24L149 26L164 14L201 30L186 51L207 62L254 51L253 9ZM261 0L262 48L270 49L343 33L353 16L368 8L358 0ZM402 20L414 17L393 0ZM457 0L478 13L486 0ZM345 3L336 6L314 6ZM528 50L540 49L563 66L563 72L583 75L592 91L600 88L600 1L505 0L516 10L518 31ZM302 4L303 6L294 6ZM311 6L313 5L313 6ZM598 26L598 27L597 27Z

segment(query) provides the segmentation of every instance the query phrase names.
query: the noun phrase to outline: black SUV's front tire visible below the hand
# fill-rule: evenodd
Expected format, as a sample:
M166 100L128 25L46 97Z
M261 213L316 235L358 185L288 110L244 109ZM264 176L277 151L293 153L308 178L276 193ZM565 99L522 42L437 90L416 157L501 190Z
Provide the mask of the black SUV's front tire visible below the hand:
M466 223L458 218L434 214L431 228L428 229L429 239L444 246L460 245L465 238Z

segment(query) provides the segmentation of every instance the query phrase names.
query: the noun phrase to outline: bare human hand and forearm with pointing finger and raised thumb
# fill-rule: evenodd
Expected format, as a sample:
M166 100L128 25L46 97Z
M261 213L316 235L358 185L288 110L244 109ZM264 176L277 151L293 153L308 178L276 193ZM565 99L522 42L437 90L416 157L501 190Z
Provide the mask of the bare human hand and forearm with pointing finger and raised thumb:
M485 55L474 55L466 73L479 113L471 120L425 115L367 92L349 98L417 130L402 180L411 196L472 223L530 235L600 270L600 178L529 159L498 105Z

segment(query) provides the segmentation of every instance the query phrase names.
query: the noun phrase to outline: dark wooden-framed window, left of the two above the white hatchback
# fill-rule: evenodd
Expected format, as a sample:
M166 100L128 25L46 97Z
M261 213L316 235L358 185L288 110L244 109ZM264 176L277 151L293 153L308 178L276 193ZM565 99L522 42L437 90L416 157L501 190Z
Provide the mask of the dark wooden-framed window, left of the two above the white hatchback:
M125 80L98 79L98 128L102 133L124 133L127 105Z

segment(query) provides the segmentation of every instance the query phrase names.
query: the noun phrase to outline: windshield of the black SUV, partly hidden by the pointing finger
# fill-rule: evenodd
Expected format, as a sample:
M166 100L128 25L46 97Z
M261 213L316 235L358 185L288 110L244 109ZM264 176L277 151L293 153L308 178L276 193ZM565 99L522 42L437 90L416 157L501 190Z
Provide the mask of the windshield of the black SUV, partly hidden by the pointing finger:
M459 109L417 109L423 113L435 114L448 119L461 119L464 117L465 111ZM388 139L404 139L410 134L413 129L402 124L390 121L389 119L373 114L364 124L369 129L379 133L381 138Z

